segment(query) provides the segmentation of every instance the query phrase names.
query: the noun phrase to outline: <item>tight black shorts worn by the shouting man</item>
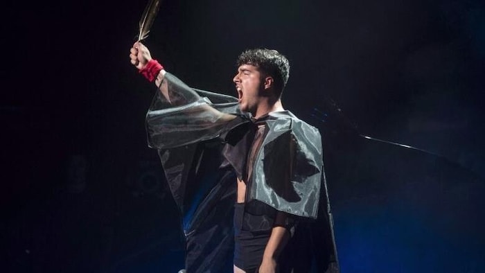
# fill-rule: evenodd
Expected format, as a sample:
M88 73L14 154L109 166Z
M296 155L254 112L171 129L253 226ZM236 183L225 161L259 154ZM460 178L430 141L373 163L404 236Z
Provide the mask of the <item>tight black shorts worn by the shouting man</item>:
M256 272L261 261L271 229L267 231L245 231L243 226L245 203L234 205L234 265L247 273Z

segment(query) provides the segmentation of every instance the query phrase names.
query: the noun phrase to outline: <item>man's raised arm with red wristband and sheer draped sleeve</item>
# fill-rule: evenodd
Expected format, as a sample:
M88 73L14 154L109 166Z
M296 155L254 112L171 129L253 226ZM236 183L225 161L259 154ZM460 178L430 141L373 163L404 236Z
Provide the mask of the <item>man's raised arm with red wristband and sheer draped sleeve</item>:
M155 94L145 119L150 147L165 149L215 139L236 118L232 113L237 112L237 103L214 105L166 72L141 42L135 42L130 49L130 62L146 79L155 82L160 91Z

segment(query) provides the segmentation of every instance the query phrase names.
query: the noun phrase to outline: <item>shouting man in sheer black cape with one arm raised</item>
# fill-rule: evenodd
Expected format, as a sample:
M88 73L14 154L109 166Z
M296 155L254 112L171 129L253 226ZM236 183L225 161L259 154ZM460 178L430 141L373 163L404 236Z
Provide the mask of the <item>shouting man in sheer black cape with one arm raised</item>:
M233 272L310 270L310 255L301 254L308 249L301 248L311 242L296 238L317 218L321 138L316 128L283 109L288 60L274 50L242 53L233 78L237 100L187 87L139 42L130 49L130 61L159 89L147 114L148 143L159 150L181 209L188 272L224 272L215 264L223 263L232 247ZM322 232L331 237L331 229ZM324 240L321 253L331 262L333 240ZM297 264L303 260L306 266Z

